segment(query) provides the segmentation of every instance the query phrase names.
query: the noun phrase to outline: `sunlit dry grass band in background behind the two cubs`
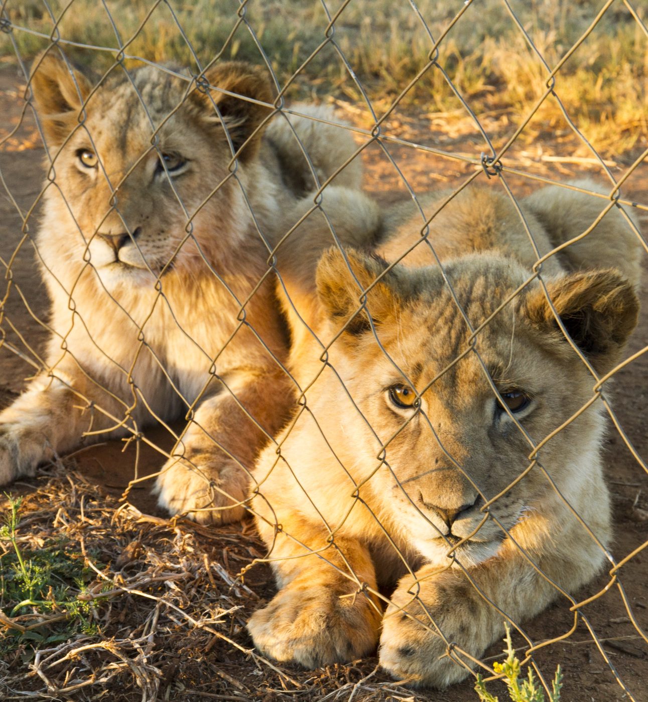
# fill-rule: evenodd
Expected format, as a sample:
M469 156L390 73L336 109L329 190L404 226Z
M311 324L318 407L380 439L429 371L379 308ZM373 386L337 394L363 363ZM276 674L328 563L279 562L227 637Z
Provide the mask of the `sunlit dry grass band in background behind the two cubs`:
M621 1L612 4L560 69L555 86L571 119L604 156L627 152L637 142L644 148L648 140L646 8L628 1L642 21L635 20ZM510 0L512 12L550 67L581 37L601 6L598 0ZM339 7L338 2L330 4L329 14ZM195 71L192 51L179 27L203 64L216 55L260 62L254 34L280 84L300 69L293 93L345 96L362 104L343 55L380 114L428 64L432 48L428 29L432 37L439 37L461 7L444 0L421 0L419 17L406 2L351 0L335 22L334 44L326 42L329 18L324 4L316 0L250 0L244 13L237 0L8 0L6 13L25 28L12 34L23 59L48 45L53 20L59 20L62 39L107 48L66 49L95 69L110 66L121 41L129 55L171 60ZM0 53L13 55L13 44L4 34ZM478 116L501 112L519 121L545 91L547 70L504 0L469 4L439 45L438 62ZM449 122L465 119L463 105L434 66L404 96L403 105L443 112ZM566 126L559 103L551 97L524 138L534 140L543 130Z

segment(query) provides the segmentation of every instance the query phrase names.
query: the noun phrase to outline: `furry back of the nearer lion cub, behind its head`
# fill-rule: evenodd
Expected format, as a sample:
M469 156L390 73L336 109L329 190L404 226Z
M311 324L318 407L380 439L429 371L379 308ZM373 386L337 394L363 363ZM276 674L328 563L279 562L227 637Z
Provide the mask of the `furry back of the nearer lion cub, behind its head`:
M568 185L605 192L592 180ZM448 200L451 194L429 194L419 200L425 218L432 217L428 225L412 201L392 207L383 218L378 253L390 262L402 258L405 265L423 266L434 265L437 258L497 251L530 271L539 258L588 232L607 207L604 198L562 186L542 188L517 201L517 206L493 187L467 187ZM642 251L637 232L635 220L612 207L585 237L544 260L541 270L557 274L613 267L637 287ZM425 241L417 245L421 239Z

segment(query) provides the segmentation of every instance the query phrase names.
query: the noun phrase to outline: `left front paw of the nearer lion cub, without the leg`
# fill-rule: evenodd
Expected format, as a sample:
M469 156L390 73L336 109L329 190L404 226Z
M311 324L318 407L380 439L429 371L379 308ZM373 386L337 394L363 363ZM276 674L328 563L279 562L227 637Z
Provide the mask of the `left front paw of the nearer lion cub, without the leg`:
M251 616L248 630L256 647L277 661L296 661L306 668L348 663L371 653L378 641L380 608L362 592L346 590L348 585L293 581Z

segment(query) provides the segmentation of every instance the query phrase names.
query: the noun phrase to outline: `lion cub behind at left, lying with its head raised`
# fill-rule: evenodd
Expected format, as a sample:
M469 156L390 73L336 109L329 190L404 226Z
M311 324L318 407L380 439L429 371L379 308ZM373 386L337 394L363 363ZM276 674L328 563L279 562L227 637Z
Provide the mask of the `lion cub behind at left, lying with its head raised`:
M82 437L186 416L160 504L201 521L242 515L247 471L294 402L267 260L315 181L285 119L263 138L270 111L258 103L273 97L260 69L218 64L206 81L243 97L154 67L117 68L95 88L51 53L34 63L53 157L36 239L51 339L48 372L0 414L0 485ZM294 128L320 178L355 149L344 130ZM358 161L341 171L324 207L359 176ZM364 232L373 208L357 199ZM343 240L353 214L336 227Z

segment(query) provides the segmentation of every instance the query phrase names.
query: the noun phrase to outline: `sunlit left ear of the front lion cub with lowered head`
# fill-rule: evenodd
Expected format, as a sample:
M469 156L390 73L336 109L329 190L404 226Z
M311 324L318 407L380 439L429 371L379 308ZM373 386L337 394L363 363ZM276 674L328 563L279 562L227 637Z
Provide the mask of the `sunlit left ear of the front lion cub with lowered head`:
M397 274L388 271L381 280L376 278L385 271L387 262L381 258L364 256L352 249L345 250L348 263L339 249L326 251L317 265L317 295L324 310L338 326L345 326L345 333L353 337L371 331L373 324L395 321L400 301L394 284ZM366 292L366 307L361 298Z

